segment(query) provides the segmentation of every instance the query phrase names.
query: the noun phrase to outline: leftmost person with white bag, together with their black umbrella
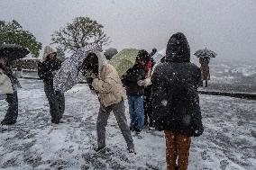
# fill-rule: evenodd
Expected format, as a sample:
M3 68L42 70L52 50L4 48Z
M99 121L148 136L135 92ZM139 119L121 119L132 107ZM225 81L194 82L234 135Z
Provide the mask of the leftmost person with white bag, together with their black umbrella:
M5 100L9 106L5 114L5 119L1 121L2 125L12 125L16 123L18 117L17 88L21 87L21 85L18 79L14 76L10 63L16 59L24 58L29 53L30 51L28 49L18 45L0 45L0 92L2 95L5 95ZM4 77L5 79L3 80Z

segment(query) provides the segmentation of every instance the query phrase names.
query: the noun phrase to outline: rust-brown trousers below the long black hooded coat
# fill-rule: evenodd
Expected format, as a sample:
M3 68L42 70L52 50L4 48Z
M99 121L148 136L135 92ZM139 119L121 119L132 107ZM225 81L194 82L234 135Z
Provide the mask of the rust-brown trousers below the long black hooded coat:
M166 139L166 163L168 170L186 170L191 138L164 130ZM178 165L176 164L178 158Z

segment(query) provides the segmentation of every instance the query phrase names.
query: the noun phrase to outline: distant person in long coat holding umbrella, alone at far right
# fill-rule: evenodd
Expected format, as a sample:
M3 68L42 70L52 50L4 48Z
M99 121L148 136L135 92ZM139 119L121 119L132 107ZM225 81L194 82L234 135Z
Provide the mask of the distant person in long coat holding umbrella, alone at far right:
M209 49L198 49L194 55L199 58L199 63L201 64L201 85L203 86L203 81L206 81L206 86L208 86L208 80L210 80L210 58L215 58L217 54Z

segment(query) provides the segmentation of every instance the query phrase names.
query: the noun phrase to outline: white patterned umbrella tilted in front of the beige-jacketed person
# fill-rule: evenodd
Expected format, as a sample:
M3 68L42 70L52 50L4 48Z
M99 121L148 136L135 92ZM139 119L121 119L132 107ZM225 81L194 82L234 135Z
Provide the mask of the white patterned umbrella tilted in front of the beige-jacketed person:
M67 58L53 78L53 87L56 91L67 92L74 85L78 84L82 77L78 74L78 67L82 65L90 52L98 53L101 47L97 44L90 44L83 49L78 49L72 56Z

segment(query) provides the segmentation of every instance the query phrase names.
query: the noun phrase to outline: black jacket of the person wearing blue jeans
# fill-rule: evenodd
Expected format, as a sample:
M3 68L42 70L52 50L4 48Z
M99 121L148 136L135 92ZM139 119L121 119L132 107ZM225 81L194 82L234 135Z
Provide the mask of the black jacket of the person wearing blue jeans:
M144 68L135 64L132 68L128 69L126 75L123 76L122 82L126 89L127 95L143 95L144 86L137 85L139 80L145 79L146 73Z

